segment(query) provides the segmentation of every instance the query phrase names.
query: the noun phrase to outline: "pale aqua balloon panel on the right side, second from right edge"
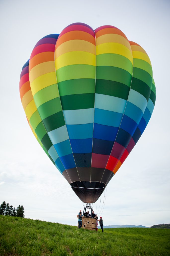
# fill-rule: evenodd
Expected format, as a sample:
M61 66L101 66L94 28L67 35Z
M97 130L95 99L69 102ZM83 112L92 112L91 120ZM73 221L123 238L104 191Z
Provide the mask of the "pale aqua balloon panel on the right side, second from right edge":
M148 102L147 102L147 99L139 92L133 89L130 89L128 101L136 105L139 109L141 109L143 113L145 112Z

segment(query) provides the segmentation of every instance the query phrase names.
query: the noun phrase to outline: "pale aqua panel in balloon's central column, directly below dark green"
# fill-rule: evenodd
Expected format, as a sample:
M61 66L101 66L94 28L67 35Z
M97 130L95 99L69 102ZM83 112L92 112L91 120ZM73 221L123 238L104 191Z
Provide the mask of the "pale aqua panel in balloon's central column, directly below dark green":
M94 108L63 110L66 124L88 124L93 123Z

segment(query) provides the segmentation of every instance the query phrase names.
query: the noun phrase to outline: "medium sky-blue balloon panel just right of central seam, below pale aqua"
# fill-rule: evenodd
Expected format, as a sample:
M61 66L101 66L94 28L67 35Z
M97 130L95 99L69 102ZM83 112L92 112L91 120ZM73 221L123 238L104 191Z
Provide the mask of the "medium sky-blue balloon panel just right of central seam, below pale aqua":
M123 114L95 108L94 123L119 127Z

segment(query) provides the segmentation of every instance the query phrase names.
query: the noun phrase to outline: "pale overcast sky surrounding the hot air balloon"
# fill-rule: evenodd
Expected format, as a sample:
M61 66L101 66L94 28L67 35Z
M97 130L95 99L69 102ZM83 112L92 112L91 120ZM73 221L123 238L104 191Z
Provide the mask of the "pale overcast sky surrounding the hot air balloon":
M74 22L93 29L113 25L149 55L156 103L146 130L94 210L99 215L106 198L100 213L104 225L170 223L169 7L169 1L148 0L0 0L0 204L22 204L26 218L77 225L83 203L28 125L19 95L20 73L42 37L59 34Z

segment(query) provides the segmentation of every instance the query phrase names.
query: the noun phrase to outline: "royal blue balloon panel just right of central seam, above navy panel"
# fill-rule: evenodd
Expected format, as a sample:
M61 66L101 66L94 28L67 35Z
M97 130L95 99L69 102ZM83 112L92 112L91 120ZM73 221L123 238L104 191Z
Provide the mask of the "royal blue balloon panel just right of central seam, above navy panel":
M93 138L106 141L114 141L119 128L94 123Z

